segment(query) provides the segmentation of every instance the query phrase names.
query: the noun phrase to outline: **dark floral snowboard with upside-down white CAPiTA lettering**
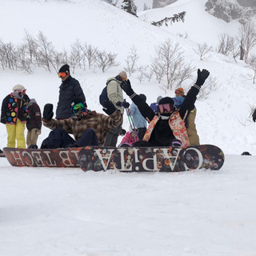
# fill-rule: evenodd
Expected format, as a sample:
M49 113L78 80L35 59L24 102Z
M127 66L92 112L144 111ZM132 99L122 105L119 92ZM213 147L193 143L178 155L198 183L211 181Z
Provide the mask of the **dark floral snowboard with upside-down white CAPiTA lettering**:
M78 157L82 170L119 170L123 172L178 172L219 170L224 154L218 146L188 147L98 147L87 146Z

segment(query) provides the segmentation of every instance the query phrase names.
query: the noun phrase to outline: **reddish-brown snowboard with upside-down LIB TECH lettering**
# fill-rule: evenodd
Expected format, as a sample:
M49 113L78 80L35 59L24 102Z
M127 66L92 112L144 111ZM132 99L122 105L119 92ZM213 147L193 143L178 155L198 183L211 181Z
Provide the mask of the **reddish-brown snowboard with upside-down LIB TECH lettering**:
M78 153L81 148L34 150L4 147L2 150L12 166L79 167Z

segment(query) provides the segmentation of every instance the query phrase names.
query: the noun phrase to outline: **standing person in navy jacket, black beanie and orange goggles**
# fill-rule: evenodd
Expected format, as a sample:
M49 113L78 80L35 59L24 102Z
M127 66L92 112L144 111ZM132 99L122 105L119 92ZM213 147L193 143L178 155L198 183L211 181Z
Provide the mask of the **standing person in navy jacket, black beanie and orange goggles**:
M62 84L59 86L56 119L66 119L74 116L70 110L71 100L79 97L82 102L86 102L86 97L78 80L71 77L69 65L65 64L58 70L58 77L61 78Z

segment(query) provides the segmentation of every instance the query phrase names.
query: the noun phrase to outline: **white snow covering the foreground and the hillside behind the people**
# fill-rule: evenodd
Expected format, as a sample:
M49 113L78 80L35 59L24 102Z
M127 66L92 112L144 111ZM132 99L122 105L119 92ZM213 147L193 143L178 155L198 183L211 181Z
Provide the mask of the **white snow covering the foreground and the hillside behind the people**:
M58 50L69 49L79 39L118 54L121 65L105 73L96 69L72 74L90 109L98 112L102 86L123 69L132 46L138 50L139 65L147 65L159 43L166 38L179 42L186 61L210 70L218 81L218 90L196 102L196 124L201 143L219 146L226 154L222 170L179 174L14 168L0 158L1 255L256 255L256 130L250 118L256 87L243 62L230 62L214 51L200 61L192 50L198 42L216 46L218 34L238 31L237 23L206 14L204 2L179 0L135 18L100 0L1 0L3 42L19 44L25 30L33 36L42 31ZM149 24L183 10L184 23L162 28ZM186 32L189 38L177 36ZM1 99L21 83L42 109L48 102L56 109L61 82L54 71L34 68L33 74L26 74L1 69L0 74ZM165 95L154 78L140 83L133 74L130 82L149 103ZM188 88L192 82L182 86ZM174 96L174 90L166 95ZM125 118L124 128L128 126ZM43 127L38 145L48 133ZM0 147L4 146L6 129L1 124ZM243 151L253 156L241 156Z

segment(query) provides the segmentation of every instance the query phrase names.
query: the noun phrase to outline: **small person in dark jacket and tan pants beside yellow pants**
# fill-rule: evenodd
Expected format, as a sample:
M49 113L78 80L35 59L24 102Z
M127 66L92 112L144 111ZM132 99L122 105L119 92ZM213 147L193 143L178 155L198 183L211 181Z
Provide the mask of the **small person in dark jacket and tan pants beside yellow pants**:
M27 110L30 114L30 119L26 122L26 145L29 149L37 149L38 136L41 134L42 115L40 107L34 98L27 102Z

